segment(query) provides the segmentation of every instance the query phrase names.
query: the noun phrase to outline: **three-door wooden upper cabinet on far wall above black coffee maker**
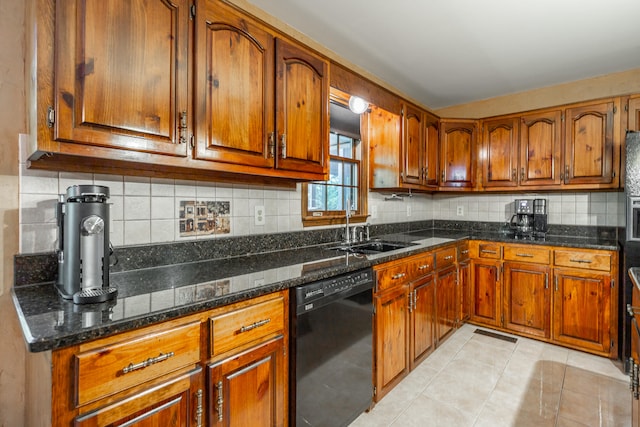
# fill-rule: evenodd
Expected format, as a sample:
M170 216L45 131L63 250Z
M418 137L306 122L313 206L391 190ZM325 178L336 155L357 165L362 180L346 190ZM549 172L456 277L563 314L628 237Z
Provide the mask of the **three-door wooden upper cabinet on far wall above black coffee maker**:
M486 190L617 188L619 99L484 120Z

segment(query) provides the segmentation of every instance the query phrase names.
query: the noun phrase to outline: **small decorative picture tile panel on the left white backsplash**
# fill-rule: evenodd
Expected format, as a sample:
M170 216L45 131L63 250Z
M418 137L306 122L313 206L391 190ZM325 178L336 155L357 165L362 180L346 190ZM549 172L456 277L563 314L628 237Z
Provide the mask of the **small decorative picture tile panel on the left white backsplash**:
M181 200L180 237L231 233L231 202Z

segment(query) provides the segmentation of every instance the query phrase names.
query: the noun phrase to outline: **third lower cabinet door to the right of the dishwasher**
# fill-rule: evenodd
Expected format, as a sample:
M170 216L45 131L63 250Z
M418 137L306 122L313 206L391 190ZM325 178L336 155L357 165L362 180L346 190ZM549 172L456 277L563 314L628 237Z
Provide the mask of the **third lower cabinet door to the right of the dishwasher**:
M456 266L437 273L436 278L436 338L438 342L456 327L458 305L456 304Z

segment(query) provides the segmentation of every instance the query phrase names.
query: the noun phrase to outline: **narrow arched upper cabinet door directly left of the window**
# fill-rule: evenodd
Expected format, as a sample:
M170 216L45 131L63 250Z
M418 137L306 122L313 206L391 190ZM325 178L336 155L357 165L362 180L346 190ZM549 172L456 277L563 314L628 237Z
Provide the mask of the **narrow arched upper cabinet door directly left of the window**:
M276 166L317 174L329 162L329 65L276 39Z

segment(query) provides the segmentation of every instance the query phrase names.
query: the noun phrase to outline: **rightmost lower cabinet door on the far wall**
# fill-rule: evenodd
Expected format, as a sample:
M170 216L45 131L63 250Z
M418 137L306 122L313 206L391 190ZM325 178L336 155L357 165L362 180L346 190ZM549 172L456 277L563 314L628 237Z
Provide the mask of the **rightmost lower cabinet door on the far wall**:
M611 276L554 270L552 339L608 354L611 346Z

